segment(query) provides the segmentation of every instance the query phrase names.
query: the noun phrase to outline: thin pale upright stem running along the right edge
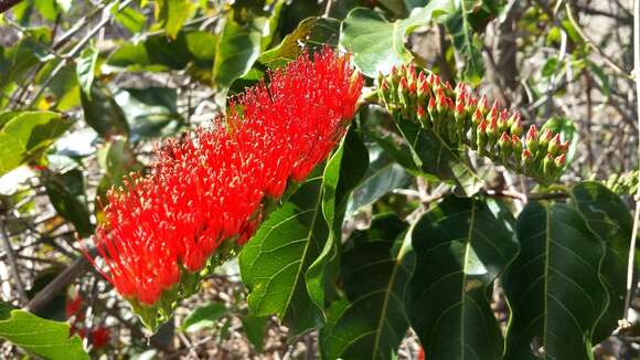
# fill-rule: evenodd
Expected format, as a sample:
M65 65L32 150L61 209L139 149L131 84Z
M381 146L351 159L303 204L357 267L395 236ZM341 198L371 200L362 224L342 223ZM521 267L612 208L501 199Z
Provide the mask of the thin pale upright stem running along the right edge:
M640 156L640 0L633 1L633 67L636 73L636 105L638 106L638 155ZM640 165L640 157L638 158ZM629 319L631 293L633 288L633 265L636 255L636 239L638 237L638 222L640 221L640 187L636 193L636 214L633 215L633 231L629 245L629 261L627 263L627 295L625 296L625 319Z

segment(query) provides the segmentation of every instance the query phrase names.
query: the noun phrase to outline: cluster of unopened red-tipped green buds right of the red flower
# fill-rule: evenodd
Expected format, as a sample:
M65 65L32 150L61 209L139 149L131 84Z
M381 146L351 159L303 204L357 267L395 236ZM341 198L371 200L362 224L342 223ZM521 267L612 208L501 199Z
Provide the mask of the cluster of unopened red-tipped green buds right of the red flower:
M378 99L401 120L418 121L449 146L465 144L480 156L550 181L565 166L568 140L550 129L542 133L531 125L524 134L519 112L509 112L498 100L489 106L486 95L478 97L470 86L452 86L434 73L415 65L393 67L378 74Z

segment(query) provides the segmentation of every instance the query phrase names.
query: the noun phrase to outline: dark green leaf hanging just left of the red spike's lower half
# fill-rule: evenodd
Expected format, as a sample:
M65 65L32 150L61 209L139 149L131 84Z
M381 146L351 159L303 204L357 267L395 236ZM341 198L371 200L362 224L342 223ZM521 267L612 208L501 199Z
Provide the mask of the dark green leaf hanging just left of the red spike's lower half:
M84 174L78 169L44 178L49 200L58 215L71 221L83 237L90 235L94 227L87 208Z

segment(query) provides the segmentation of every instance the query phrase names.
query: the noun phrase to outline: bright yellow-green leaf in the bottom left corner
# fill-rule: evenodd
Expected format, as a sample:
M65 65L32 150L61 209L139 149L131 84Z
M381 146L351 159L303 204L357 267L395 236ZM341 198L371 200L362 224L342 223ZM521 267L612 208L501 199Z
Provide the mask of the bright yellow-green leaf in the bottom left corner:
M44 359L89 359L66 322L45 320L0 303L0 338Z

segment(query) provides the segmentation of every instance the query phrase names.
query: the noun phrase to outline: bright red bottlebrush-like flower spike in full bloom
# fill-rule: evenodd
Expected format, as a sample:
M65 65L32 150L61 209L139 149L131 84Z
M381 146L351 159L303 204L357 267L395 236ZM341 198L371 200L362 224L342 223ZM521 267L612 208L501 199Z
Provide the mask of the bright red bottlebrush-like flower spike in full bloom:
M124 297L153 305L181 268L200 271L224 241L242 245L263 202L303 180L342 138L362 86L349 55L303 53L232 99L212 128L168 140L148 176L108 192L93 236L98 269Z

